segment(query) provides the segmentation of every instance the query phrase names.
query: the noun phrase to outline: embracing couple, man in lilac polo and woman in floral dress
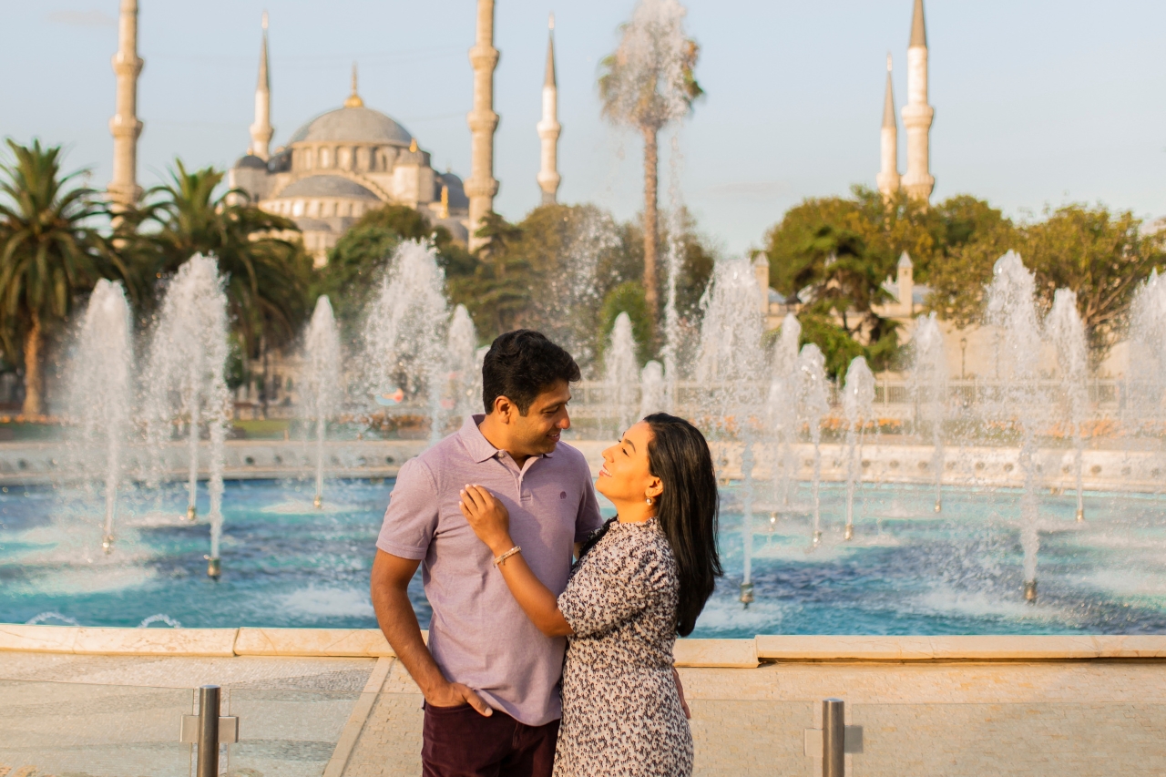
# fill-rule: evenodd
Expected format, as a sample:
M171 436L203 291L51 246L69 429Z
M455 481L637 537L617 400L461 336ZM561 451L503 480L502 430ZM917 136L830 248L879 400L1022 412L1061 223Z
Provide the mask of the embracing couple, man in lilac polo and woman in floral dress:
M372 600L424 694L427 777L693 771L673 643L721 574L712 459L694 426L658 413L603 452L592 487L560 442L578 379L543 335L501 335L485 414L398 476ZM616 506L607 523L595 489ZM428 646L408 597L419 564Z

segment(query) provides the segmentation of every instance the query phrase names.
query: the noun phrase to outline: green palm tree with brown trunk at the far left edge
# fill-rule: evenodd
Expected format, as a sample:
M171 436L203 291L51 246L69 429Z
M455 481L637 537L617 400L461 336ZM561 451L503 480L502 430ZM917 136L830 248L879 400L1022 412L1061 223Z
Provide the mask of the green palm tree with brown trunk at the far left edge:
M8 200L0 202L0 338L9 360L23 355L22 413L36 416L44 411L45 336L78 294L126 273L90 225L108 215L98 192L71 186L84 170L62 175L59 146L7 142L14 162L0 166L0 192Z

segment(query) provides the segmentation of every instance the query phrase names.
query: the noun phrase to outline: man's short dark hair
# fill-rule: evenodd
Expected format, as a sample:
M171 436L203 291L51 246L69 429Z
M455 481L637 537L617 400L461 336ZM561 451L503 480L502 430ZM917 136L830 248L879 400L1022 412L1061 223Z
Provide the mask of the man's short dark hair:
M539 394L560 380L575 383L581 377L571 355L541 331L515 329L496 337L482 362L482 402L489 414L494 400L505 397L526 415Z

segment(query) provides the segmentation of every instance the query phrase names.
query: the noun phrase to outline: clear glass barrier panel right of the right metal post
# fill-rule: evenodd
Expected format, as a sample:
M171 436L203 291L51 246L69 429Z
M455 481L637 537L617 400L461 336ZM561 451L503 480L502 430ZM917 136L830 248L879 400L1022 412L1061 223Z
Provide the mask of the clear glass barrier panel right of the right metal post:
M848 705L855 777L1166 772L1166 705Z

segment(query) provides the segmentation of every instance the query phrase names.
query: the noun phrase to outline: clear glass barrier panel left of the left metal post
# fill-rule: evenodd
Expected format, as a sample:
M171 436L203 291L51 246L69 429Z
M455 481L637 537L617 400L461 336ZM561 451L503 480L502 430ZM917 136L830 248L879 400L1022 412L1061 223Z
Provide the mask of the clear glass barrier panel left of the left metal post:
M188 777L189 688L0 680L0 772Z

